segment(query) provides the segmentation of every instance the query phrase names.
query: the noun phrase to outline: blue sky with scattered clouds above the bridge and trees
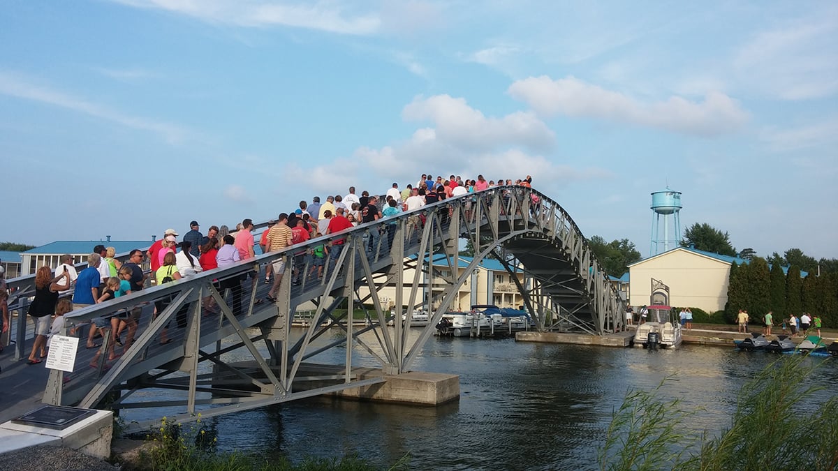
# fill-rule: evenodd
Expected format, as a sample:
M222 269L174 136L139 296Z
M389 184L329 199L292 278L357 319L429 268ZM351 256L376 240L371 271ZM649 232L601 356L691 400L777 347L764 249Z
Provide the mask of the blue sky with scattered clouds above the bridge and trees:
M146 240L422 173L649 255L650 194L838 256L838 3L6 0L0 241Z

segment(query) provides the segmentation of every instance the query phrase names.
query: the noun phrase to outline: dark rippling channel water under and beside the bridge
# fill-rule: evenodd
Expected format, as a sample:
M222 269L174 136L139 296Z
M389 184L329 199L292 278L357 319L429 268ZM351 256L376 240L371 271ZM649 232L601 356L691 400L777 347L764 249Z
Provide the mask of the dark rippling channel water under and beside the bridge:
M315 360L339 362L344 354L333 349ZM693 345L649 351L434 337L413 369L460 375L458 402L433 408L313 398L218 417L214 428L220 449L268 457L355 452L386 467L410 453L416 469L596 468L612 411L630 389L670 378L662 396L705 408L691 427L717 431L730 424L744 382L777 359ZM813 381L835 385L838 361L825 359Z

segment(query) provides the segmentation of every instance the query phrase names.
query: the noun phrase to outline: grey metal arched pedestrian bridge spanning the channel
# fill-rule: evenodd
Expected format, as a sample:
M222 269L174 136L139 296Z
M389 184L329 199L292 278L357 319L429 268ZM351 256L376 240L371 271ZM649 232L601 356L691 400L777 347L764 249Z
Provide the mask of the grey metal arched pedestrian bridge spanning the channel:
M381 236L372 237L373 231ZM327 263L322 277L302 277L299 285L292 284L290 267L312 272L304 248L341 239L344 249ZM458 270L463 239L471 241L475 253L471 264ZM372 246L373 241L377 245ZM375 384L385 375L411 370L458 287L489 255L499 258L510 274L524 272L524 282L511 278L535 329L602 335L622 322L623 301L570 215L535 189L494 187L74 311L66 316L68 328L117 311L134 309L142 314L134 344L112 362L106 362L106 355L95 362L96 349L85 349L81 339L75 370L52 370L44 402L111 408L176 406L182 413L169 421L187 422L198 412L210 417ZM261 282L264 275L256 272L270 270L280 259L289 268L277 301L269 303L267 286ZM447 270L441 269L441 260ZM415 268L413 276L406 277L410 268ZM250 281L251 274L256 274L256 282ZM230 277L246 279L241 292L218 288L218 281ZM34 292L31 284L18 282L18 292L24 296ZM423 289L426 286L435 289ZM446 288L440 291L439 286ZM396 288L391 301L396 313L398 307L405 308L404 323L387 326L393 316L380 296L385 287ZM431 294L425 297L424 292ZM19 300L25 303L25 298ZM154 303L161 300L168 305L153 318ZM210 300L220 313L204 308ZM302 335L291 334L292 318L303 305L313 311L308 327ZM364 322L347 322L351 317L347 313L359 308L365 312ZM427 310L431 320L418 334L414 328L408 335L411 313L417 309ZM159 343L163 329L172 342ZM324 335L334 329L344 334ZM101 348L106 351L109 339L103 341ZM344 365L313 364L313 356L334 348L345 349ZM353 359L357 348L365 349L376 362L363 366L380 368L380 375L364 379L354 375L353 367L359 366ZM228 355L241 349L253 359L246 367L231 362ZM89 367L91 363L95 366ZM202 365L211 365L212 372L199 368ZM166 390L166 399L149 399L142 394L148 388Z

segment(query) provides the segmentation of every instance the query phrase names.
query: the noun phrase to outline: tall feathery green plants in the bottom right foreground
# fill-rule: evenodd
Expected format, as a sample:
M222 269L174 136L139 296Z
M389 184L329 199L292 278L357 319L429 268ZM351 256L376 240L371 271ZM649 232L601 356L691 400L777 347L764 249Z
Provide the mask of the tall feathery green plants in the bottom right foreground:
M819 403L824 388L808 382L820 364L808 355L781 356L742 387L727 427L697 436L685 422L695 412L662 399L665 382L629 391L597 453L599 467L838 469L838 396Z

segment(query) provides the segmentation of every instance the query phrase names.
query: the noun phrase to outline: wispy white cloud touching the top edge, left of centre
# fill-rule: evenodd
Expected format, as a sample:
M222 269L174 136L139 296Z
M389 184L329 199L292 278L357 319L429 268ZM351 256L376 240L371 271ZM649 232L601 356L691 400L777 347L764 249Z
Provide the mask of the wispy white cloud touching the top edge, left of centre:
M289 26L336 34L375 34L376 14L352 15L334 2L278 5L255 0L111 0L136 8L154 8L199 18L209 23L244 27Z

